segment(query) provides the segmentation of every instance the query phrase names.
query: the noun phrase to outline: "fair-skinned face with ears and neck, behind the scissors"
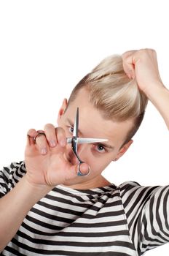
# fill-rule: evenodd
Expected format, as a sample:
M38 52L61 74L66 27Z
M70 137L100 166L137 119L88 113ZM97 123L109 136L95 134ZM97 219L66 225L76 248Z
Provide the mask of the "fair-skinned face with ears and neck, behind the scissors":
M106 144L111 148L106 148L101 143L79 144L79 157L90 166L91 173L89 176L80 178L79 182L77 180L77 184L69 187L74 189L92 189L106 186L111 183L106 181L101 173L113 159L122 157L127 148L133 143L133 140L130 140L125 146L120 148L125 140L126 131L132 127L133 122L125 121L118 123L104 119L100 111L96 110L90 103L89 92L86 89L81 89L67 110L67 100L63 100L63 105L58 114L58 126L63 128L66 137L72 137L74 114L76 113L77 106L79 106L79 136L82 138L106 138L108 140ZM66 113L64 113L65 110ZM95 117L94 119L93 116ZM78 159L76 159L70 144L66 146L65 154L66 159L71 164L78 164Z

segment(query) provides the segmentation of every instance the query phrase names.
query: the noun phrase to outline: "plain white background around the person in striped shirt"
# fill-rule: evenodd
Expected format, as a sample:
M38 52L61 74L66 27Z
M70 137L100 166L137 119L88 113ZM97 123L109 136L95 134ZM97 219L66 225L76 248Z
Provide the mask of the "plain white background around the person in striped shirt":
M63 98L106 56L154 48L168 87L168 22L164 0L0 1L1 167L24 159L28 129L56 125ZM117 185L168 184L168 129L151 102L133 139L104 176Z

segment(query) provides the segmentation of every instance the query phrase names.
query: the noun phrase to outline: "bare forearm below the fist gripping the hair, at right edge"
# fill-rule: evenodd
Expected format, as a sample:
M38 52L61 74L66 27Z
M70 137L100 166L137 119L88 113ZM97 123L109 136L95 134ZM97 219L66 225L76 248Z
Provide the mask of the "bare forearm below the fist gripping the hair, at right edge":
M169 90L160 84L159 86L154 86L153 92L147 91L146 96L160 112L169 129Z

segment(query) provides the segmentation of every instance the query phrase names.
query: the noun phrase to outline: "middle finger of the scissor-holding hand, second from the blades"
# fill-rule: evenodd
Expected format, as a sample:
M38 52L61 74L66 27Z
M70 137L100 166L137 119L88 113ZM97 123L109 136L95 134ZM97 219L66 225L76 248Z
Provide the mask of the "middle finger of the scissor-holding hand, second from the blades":
M46 124L44 126L44 132L49 146L54 148L57 145L57 138L54 125Z

